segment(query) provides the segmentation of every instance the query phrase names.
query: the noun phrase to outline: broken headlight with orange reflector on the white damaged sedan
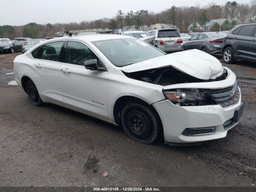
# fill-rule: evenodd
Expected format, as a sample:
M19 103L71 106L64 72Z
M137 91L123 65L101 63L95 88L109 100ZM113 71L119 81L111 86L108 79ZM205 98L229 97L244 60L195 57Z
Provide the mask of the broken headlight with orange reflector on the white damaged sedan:
M207 90L176 89L163 92L165 97L178 106L200 106L217 104Z

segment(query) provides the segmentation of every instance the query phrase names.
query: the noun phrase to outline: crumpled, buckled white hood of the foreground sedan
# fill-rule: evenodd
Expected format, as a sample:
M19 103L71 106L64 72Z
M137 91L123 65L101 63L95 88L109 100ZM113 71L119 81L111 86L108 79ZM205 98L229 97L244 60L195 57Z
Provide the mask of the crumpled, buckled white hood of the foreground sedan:
M121 68L123 72L137 72L152 68L172 66L181 72L199 79L216 79L223 73L220 61L200 50L187 50L138 62Z

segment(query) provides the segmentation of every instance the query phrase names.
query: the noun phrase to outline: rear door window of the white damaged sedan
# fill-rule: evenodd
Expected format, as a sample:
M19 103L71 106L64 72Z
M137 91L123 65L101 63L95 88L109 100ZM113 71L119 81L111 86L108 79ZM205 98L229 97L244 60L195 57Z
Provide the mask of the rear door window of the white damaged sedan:
M59 61L60 50L62 48L63 41L47 43L42 46L40 59Z

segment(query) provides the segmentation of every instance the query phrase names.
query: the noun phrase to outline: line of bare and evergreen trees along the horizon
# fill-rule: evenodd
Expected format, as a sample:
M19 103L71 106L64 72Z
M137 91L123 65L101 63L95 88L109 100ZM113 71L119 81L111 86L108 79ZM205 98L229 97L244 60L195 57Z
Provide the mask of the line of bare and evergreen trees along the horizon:
M188 26L195 21L201 21L204 25L212 19L220 18L247 18L250 22L256 15L256 0L251 0L248 4L238 4L236 1L226 2L224 5L209 3L206 6L170 6L170 8L162 12L148 12L148 10L129 11L124 13L118 10L113 18L102 18L93 21L84 20L82 22L56 23L56 24L37 24L28 23L24 26L0 26L0 38L14 39L16 37L44 38L49 36L57 36L57 32L64 30L84 30L94 28L119 29L128 26L133 30L139 30L141 26L156 23L170 24L180 28L180 32L188 32ZM229 30L235 25L233 22L226 22L223 26L214 23L212 30ZM193 27L192 26L192 27Z

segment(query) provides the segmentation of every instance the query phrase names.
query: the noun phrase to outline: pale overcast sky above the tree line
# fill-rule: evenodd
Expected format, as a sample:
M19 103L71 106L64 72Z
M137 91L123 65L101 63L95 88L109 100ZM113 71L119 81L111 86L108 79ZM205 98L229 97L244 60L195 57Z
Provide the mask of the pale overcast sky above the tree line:
M228 0L0 0L0 26L69 23L112 18L118 10L161 12L171 6L224 5ZM236 0L248 3L250 0Z

